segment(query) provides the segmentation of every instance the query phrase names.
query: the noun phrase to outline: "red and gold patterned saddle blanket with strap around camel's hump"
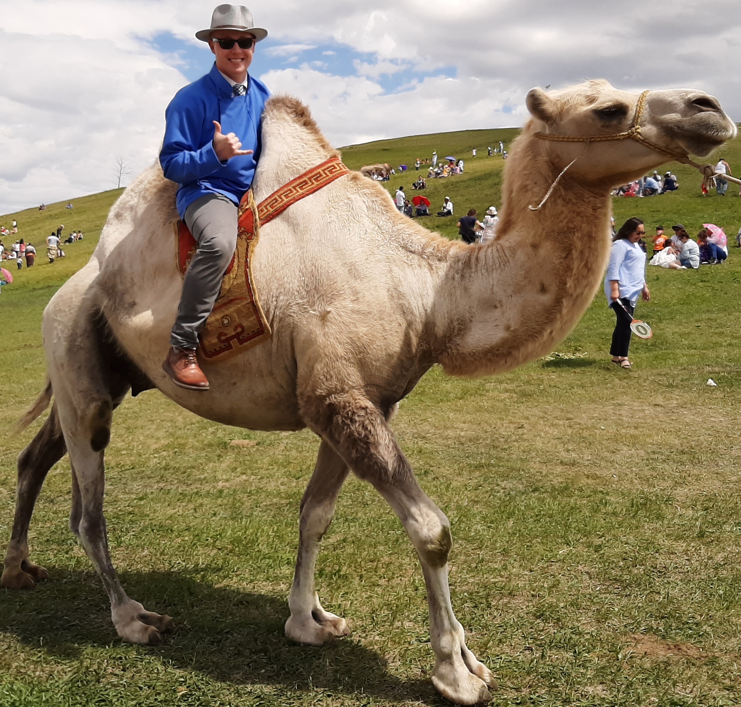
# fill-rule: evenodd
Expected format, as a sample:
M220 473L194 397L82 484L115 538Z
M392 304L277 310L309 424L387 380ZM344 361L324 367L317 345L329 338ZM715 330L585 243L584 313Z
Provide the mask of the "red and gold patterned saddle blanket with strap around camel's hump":
M236 250L213 311L199 335L201 356L222 361L270 337L270 325L262 312L252 277L260 225L349 172L339 157L331 157L280 187L259 205L255 204L251 189L242 197L237 214ZM185 222L175 222L175 236L178 268L185 276L198 244Z

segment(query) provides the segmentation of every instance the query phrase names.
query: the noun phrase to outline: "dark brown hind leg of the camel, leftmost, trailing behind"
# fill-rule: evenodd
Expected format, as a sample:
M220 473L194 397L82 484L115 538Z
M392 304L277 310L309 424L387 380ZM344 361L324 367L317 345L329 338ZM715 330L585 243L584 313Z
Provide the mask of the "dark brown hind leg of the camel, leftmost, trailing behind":
M39 497L44 479L53 465L67 452L56 404L44 425L18 458L18 486L16 516L13 531L5 553L4 571L0 586L8 589L33 589L36 582L49 577L47 571L28 559L28 526L33 507Z

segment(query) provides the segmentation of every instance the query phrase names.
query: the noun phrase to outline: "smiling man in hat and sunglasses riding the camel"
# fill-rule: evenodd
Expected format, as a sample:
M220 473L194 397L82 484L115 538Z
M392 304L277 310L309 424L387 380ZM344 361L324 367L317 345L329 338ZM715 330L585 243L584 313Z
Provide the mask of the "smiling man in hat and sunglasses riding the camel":
M267 30L253 26L247 7L216 7L210 28L196 32L216 62L206 76L179 90L165 111L159 162L165 177L179 185L178 213L198 243L162 364L181 388L208 390L196 359L198 334L236 248L237 208L260 155L260 119L270 92L247 68L255 42L266 36Z

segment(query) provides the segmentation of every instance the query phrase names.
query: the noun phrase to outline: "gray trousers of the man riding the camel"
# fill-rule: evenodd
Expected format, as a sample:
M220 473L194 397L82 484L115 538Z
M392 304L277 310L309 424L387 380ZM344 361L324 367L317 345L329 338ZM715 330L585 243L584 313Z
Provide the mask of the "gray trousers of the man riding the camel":
M196 348L198 334L219 296L224 273L236 248L237 206L221 194L205 194L185 210L185 225L198 250L185 273L178 317L170 345Z

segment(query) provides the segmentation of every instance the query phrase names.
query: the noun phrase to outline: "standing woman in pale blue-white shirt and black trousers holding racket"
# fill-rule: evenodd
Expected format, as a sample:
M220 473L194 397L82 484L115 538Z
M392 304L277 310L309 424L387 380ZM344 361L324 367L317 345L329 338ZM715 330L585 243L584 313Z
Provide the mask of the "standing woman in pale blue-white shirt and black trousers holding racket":
M617 316L610 355L612 362L625 371L631 370L628 348L631 345L631 322L638 296L642 296L644 302L651 299L645 281L646 256L638 245L645 233L643 222L637 218L628 219L620 227L605 275L605 296L608 306Z

